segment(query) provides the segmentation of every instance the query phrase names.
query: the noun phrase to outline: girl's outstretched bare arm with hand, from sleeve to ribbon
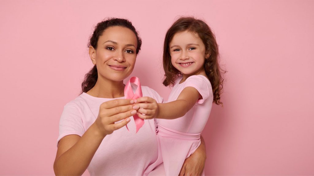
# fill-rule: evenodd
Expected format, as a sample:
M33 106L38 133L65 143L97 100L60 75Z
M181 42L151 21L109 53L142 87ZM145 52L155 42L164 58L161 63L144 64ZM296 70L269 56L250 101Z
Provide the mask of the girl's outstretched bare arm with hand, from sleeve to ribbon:
M137 114L142 119L176 119L184 116L200 97L200 93L194 87L186 87L176 101L157 103L153 98L141 97L136 99L135 103L140 108Z

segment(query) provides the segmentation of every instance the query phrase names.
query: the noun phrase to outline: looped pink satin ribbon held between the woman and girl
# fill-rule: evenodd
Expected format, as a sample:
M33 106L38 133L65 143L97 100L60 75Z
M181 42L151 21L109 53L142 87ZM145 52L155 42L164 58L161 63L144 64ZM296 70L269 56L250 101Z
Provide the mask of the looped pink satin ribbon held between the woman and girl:
M136 91L135 91L135 94L133 93L131 83L134 83L135 85L138 86ZM132 78L130 78L129 81L127 81L127 84L125 85L125 88L124 88L124 96L126 99L133 99L133 100L143 96L141 83L139 82L138 77L133 76ZM136 115L136 114L133 115L133 118L134 118L134 122L135 122L135 126L136 126L136 133L137 133L138 130L144 125L144 120L139 118L138 115ZM126 127L127 127L127 125L126 125ZM127 127L127 131L130 132L128 127Z

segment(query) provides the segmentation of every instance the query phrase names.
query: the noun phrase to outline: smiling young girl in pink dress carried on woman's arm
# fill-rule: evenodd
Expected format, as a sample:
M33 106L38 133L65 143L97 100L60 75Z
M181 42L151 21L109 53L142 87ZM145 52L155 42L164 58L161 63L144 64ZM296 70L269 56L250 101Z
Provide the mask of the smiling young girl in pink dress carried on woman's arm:
M223 79L218 58L218 44L209 26L192 17L179 18L164 43L163 84L173 86L168 103L156 103L149 97L135 101L139 117L158 118L162 158L155 164L163 160L166 175L187 174L182 164L200 145L213 102L221 104Z

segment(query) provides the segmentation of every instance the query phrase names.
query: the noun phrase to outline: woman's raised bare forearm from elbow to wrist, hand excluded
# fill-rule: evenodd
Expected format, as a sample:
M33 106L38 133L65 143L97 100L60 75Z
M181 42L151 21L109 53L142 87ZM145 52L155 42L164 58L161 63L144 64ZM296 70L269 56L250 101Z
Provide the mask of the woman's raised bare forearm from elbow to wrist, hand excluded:
M66 152L56 158L53 165L56 175L82 175L95 155L104 136L93 123L82 137Z

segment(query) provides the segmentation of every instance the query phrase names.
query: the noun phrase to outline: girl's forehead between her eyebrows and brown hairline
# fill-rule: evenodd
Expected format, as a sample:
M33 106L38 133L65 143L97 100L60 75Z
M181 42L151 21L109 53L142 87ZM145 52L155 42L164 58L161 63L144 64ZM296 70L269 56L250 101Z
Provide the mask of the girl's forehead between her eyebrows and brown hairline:
M182 43L202 43L202 39L198 37L198 34L190 31L178 32L173 36L170 44L182 44Z

